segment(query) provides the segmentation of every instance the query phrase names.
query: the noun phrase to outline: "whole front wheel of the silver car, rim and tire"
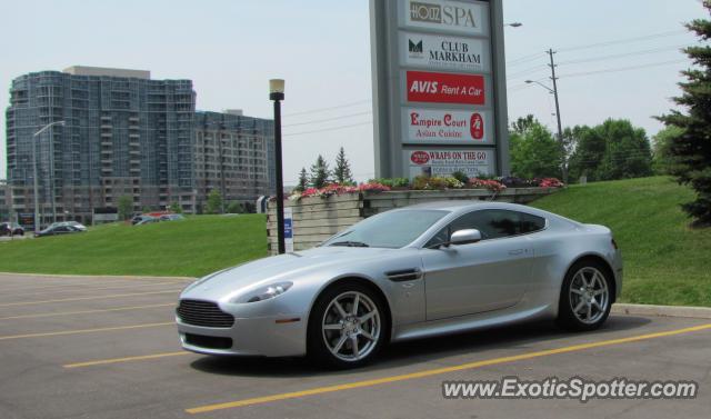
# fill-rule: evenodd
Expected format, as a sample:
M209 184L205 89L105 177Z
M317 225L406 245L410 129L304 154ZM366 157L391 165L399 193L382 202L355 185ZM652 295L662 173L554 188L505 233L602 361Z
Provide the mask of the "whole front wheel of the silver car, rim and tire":
M308 355L337 368L372 360L389 331L383 301L370 288L344 282L327 289L309 319Z

